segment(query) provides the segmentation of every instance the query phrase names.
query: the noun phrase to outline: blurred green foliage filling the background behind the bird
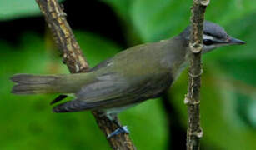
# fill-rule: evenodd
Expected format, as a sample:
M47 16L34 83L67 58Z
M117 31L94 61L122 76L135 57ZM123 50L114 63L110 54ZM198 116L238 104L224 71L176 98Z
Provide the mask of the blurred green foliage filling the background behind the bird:
M173 37L189 23L192 1L188 0L102 0L113 7L120 20L136 31L134 41L154 42ZM0 20L38 14L33 0L0 1ZM201 114L203 144L208 149L253 150L256 148L256 2L253 0L215 0L206 19L222 25L233 37L247 44L222 47L203 57ZM121 50L117 43L92 32L75 31L90 66ZM130 36L128 34L128 36ZM127 37L129 40L133 37ZM90 112L55 114L48 103L56 95L14 96L14 73L68 73L61 63L50 36L25 32L18 45L0 41L0 149L109 149ZM132 46L132 45L131 45ZM187 73L170 88L183 128L187 110ZM143 102L120 114L131 130L138 149L167 149L168 122L160 100ZM172 131L171 131L172 132Z

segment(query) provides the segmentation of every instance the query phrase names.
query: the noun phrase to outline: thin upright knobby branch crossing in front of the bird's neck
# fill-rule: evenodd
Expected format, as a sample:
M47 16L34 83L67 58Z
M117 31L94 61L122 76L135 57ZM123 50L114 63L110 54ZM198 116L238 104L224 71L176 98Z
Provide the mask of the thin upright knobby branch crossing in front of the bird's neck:
M188 105L187 150L200 149L200 138L203 130L200 125L200 87L202 74L201 52L203 50L203 19L209 0L193 0L189 47L192 52L188 76L188 94L185 103Z

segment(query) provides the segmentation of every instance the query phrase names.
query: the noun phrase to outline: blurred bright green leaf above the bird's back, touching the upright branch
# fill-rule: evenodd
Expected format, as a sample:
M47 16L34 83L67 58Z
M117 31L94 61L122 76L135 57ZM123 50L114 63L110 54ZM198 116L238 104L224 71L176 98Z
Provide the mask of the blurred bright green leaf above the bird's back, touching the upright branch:
M172 37L188 25L189 5L186 0L135 1L131 7L133 25L144 42Z

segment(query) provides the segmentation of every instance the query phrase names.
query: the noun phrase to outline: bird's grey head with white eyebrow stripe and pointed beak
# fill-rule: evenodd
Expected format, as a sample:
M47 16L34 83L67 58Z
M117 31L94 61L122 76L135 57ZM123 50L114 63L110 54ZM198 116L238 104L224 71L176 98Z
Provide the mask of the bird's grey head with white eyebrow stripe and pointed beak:
M191 26L188 26L181 33L181 36L186 39L187 43L189 41L190 31ZM203 53L212 51L216 47L241 44L245 44L245 42L229 36L218 24L208 21L203 23Z

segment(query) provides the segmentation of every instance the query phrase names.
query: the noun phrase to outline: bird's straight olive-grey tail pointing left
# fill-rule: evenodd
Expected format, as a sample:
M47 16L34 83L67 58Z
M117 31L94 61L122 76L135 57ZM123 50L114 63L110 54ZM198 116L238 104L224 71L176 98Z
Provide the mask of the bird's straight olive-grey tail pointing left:
M59 93L62 92L57 81L59 77L56 75L31 75L16 74L11 77L14 85L12 93L14 94L40 94L40 93Z

